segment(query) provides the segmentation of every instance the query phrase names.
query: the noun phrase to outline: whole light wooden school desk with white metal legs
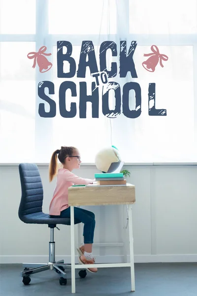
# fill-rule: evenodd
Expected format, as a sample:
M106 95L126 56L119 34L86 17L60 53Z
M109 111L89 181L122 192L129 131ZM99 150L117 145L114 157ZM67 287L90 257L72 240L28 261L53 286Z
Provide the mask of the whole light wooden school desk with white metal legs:
M70 206L71 219L71 286L75 293L75 269L84 267L131 267L131 292L135 291L134 279L134 256L132 235L132 207L135 202L135 186L127 183L126 186L74 186L68 188L68 205ZM74 246L74 206L99 206L99 205L128 205L129 211L129 241L130 241L130 263L104 263L104 264L75 264Z

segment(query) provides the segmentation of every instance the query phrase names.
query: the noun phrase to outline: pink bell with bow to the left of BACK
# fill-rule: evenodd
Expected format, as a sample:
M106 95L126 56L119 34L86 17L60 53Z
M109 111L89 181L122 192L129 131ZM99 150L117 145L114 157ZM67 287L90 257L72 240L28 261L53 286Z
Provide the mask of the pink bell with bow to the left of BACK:
M35 68L36 60L37 60L37 65L39 66L39 72L40 73L44 73L44 72L49 71L51 69L51 67L53 66L47 60L47 58L45 58L45 56L51 55L51 53L45 53L46 49L47 49L46 46L42 46L42 47L40 47L38 52L30 52L30 53L28 53L28 58L29 59L34 59L32 68Z

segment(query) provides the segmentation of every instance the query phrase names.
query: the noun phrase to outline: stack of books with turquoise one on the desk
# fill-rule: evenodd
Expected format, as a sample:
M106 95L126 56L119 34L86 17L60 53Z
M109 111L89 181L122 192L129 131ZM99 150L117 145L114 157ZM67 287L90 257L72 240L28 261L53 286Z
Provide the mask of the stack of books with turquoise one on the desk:
M95 174L98 185L127 185L123 173L100 173Z

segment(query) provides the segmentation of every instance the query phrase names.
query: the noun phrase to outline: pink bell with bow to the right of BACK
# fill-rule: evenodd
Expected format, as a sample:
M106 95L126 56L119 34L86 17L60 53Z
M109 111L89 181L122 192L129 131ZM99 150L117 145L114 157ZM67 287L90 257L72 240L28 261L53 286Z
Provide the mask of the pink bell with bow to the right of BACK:
M162 60L167 61L168 57L165 54L160 54L159 48L156 45L151 46L151 50L153 53L144 53L144 57L151 56L146 60L145 62L142 63L142 66L144 69L146 69L149 72L154 72L155 67L157 66L159 60L160 60L160 65L163 68Z

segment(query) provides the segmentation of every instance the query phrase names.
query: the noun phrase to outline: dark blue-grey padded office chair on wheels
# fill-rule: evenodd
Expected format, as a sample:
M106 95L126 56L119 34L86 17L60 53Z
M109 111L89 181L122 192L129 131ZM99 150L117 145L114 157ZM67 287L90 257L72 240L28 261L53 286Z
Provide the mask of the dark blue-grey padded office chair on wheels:
M44 263L23 263L25 267L21 272L24 285L28 285L31 282L30 275L33 273L54 270L60 273L60 285L66 285L66 273L65 268L71 269L71 264L65 264L64 260L55 261L55 242L54 242L54 228L57 224L70 225L69 218L51 218L48 214L42 212L43 201L43 187L40 178L39 170L36 164L33 163L21 163L19 165L19 174L21 180L21 202L19 206L18 215L21 221L25 223L33 224L48 224L50 228L50 242L49 242L49 262ZM79 221L75 220L75 224ZM60 230L60 229L59 229ZM31 269L30 269L31 267ZM34 267L34 268L33 268ZM79 276L86 277L86 270L82 268L79 271Z

